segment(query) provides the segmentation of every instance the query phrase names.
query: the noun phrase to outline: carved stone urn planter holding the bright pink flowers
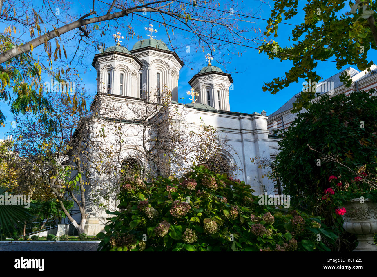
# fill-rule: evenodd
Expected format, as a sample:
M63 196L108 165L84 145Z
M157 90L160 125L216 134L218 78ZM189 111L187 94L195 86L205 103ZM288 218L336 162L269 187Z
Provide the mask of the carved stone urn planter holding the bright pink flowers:
M356 234L359 244L354 251L377 251L373 242L373 234L377 233L377 203L355 198L344 203L346 213L343 215L343 228Z

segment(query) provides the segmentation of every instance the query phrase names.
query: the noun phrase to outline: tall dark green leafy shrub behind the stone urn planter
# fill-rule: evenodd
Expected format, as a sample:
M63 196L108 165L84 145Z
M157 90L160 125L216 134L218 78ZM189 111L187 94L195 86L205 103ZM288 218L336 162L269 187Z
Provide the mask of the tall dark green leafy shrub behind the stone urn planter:
M339 236L333 250L354 249L356 237L344 231L334 205L322 199L325 190L335 190L329 176L337 176L344 184L337 189L338 200L359 196L377 199L370 186L361 182L355 186L353 181L355 172L364 172L377 181L377 97L372 93L374 90L331 98L322 95L310 109L297 115L278 143L281 151L273 166L284 185L283 192L293 196L293 207L325 218L325 224Z

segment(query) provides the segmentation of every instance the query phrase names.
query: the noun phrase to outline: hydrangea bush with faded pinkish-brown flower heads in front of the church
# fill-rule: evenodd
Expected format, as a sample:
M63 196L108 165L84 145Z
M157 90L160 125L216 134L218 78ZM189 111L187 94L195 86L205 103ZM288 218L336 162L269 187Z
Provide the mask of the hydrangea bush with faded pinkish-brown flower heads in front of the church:
M245 182L192 169L180 180L123 184L99 250L313 251L328 250L317 234L336 238L319 217L259 205Z

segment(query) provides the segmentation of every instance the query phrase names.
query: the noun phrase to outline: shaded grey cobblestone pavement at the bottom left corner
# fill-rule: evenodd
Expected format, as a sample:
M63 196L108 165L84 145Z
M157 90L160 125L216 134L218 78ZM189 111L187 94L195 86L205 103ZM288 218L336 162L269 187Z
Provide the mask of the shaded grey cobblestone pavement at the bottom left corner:
M0 251L96 251L92 242L0 242Z

